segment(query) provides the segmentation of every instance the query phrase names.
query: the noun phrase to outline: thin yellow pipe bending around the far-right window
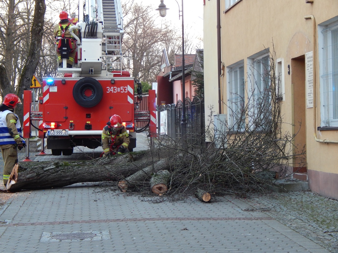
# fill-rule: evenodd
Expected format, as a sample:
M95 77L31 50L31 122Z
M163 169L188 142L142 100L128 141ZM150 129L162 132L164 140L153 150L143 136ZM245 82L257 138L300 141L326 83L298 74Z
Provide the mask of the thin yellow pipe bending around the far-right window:
M314 130L314 138L316 142L322 143L337 143L338 141L330 141L330 140L321 140L317 138L317 102L316 102L316 21L313 15L305 16L305 19L312 20L312 33L313 33L313 42L312 42L312 70L313 70L313 130Z

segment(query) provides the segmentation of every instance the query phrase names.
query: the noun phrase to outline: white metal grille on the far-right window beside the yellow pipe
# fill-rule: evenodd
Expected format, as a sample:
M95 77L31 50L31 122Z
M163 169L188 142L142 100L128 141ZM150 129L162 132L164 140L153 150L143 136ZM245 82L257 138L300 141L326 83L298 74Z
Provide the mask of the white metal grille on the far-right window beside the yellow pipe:
M323 29L323 120L324 126L338 126L338 23Z

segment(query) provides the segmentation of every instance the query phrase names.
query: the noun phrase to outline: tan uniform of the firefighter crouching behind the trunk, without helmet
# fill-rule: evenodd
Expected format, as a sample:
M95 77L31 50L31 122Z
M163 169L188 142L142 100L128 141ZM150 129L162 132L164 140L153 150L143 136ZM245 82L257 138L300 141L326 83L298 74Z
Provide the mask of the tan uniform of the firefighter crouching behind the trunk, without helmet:
M101 143L105 155L111 152L111 144L113 146L112 151L114 152L117 152L119 146L124 146L125 152L128 152L130 140L127 129L123 126L120 130L114 133L111 132L111 128L106 125L102 130Z

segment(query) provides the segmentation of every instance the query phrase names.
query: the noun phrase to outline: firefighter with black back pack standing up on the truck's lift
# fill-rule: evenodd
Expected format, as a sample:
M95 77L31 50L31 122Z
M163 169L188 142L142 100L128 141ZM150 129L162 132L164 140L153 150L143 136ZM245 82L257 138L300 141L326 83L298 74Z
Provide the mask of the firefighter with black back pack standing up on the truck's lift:
M56 49L59 47L59 41L61 38L69 38L70 39L70 48L71 52L69 53L69 58L67 59L67 67L71 68L74 63L75 59L75 54L76 54L76 40L72 36L72 34L69 31L69 28L73 26L72 23L69 22L68 20L68 13L64 10L60 12L59 15L60 22L56 24L55 29L54 29L54 36L56 39ZM75 34L77 30L73 31ZM62 67L62 59L61 59L61 54L60 52L57 52L56 50L56 55L57 55L57 62L59 64L59 67Z

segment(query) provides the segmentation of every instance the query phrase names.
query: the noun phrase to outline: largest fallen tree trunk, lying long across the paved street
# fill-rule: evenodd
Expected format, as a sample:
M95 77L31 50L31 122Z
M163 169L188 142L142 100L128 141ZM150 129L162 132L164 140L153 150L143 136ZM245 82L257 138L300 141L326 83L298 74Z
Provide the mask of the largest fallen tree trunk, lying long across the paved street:
M141 153L79 162L21 162L17 182L7 190L48 189L79 182L118 181L149 165L146 152L143 155Z

